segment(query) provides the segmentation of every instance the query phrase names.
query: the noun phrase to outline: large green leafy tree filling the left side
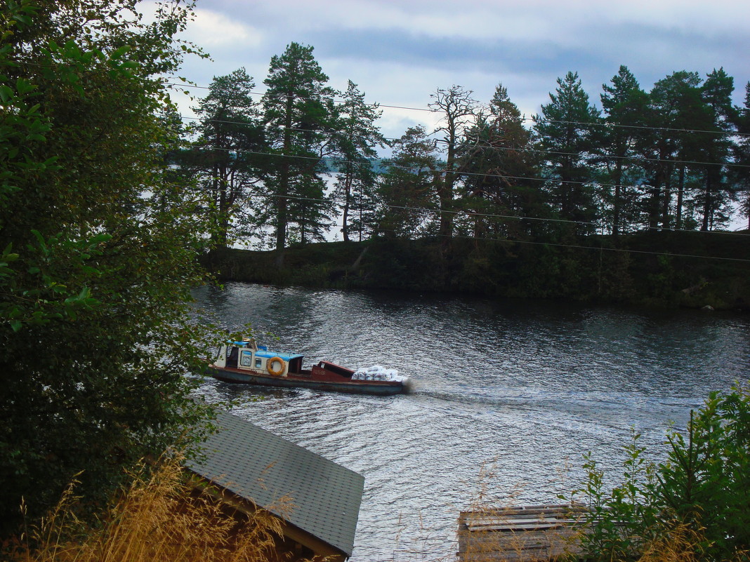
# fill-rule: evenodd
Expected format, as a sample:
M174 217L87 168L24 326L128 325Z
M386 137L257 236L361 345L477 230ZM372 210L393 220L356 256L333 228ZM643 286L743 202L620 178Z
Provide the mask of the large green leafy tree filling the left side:
M190 17L130 0L0 7L0 534L74 474L104 505L123 467L202 432L184 375L201 241L170 184L163 73ZM191 46L185 49L193 50ZM166 204L168 202L168 204Z

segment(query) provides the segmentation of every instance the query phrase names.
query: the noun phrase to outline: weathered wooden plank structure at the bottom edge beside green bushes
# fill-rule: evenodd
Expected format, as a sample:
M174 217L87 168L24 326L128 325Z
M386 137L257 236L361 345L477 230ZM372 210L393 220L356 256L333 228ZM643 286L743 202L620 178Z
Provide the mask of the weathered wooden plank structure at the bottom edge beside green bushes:
M580 504L461 512L459 562L537 562L580 555Z

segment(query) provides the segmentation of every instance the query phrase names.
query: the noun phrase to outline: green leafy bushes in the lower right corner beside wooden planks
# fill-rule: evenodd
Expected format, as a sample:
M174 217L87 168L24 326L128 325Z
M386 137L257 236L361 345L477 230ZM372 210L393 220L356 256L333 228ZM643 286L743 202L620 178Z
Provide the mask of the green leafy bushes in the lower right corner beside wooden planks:
M635 560L676 535L691 537L692 558L746 559L750 552L750 384L709 394L685 432L667 434L667 460L647 462L633 431L622 480L605 485L592 453L583 486L570 498L588 512L581 537L592 560Z

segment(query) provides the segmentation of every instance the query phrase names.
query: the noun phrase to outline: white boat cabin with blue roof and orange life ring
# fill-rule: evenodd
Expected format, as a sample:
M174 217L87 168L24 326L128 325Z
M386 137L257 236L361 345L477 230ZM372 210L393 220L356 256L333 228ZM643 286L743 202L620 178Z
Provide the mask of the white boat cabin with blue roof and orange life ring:
M252 371L263 375L286 377L302 372L302 355L269 351L254 339L226 342L219 349L214 366Z

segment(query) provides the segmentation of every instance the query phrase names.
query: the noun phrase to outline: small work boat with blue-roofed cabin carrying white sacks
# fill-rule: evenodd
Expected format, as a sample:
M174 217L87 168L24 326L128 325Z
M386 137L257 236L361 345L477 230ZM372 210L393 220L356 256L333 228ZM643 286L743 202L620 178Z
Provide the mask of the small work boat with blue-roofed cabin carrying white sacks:
M354 371L329 361L303 369L302 358L298 354L269 351L266 345L246 338L222 345L208 371L220 381L269 387L303 387L380 396L405 393L410 388L409 377L399 375L396 369L376 365Z

